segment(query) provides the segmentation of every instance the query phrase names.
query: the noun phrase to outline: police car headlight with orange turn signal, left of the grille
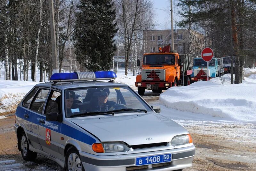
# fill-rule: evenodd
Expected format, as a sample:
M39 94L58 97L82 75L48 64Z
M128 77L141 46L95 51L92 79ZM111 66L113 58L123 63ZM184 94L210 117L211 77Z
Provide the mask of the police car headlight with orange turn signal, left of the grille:
M92 150L95 152L126 152L129 148L123 142L94 143Z

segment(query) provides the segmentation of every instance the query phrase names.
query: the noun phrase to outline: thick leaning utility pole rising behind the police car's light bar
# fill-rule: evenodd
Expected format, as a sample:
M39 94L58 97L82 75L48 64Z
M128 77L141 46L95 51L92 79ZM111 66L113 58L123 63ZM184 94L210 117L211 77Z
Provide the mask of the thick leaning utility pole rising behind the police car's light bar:
M57 63L57 48L56 48L56 35L55 35L55 20L53 11L53 0L49 0L50 10L50 25L51 25L51 41L52 41L52 74L59 73L59 65Z

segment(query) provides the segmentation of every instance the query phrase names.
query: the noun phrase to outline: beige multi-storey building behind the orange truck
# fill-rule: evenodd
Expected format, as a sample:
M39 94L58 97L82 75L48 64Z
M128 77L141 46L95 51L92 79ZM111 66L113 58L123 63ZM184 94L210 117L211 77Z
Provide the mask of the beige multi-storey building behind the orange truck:
M144 52L158 51L159 47L164 47L166 44L172 45L171 30L145 30L143 31ZM191 42L191 52L193 56L200 56L204 46L204 35L194 30L191 31L191 40L189 38L188 29L177 29L173 32L174 49L179 54L189 53L189 42Z

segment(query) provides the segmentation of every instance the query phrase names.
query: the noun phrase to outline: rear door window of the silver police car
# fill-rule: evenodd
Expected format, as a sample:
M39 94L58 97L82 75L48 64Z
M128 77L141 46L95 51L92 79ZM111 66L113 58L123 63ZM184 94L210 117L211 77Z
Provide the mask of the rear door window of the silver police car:
M30 106L30 109L35 111L36 113L42 114L42 111L44 108L44 102L46 100L48 93L49 93L49 90L45 90L45 89L39 90L36 97L34 98L34 101Z

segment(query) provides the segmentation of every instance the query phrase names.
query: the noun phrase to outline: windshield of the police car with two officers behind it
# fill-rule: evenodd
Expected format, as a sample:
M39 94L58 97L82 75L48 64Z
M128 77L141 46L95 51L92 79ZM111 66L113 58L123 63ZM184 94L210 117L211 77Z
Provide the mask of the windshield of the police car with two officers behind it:
M136 93L126 86L66 90L64 104L67 118L152 111Z

